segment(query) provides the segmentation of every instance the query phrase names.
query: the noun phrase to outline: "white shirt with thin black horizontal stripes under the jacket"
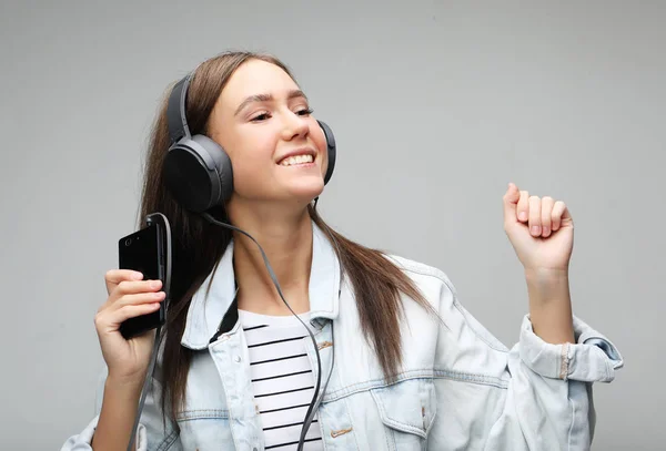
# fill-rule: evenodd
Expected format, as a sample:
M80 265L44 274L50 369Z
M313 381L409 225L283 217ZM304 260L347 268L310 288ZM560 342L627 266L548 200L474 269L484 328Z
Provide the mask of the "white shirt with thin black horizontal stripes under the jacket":
M299 317L311 327L310 314ZM265 449L295 451L315 386L303 342L309 334L293 315L268 316L239 309L239 320L248 340L252 389ZM323 450L316 416L303 450Z

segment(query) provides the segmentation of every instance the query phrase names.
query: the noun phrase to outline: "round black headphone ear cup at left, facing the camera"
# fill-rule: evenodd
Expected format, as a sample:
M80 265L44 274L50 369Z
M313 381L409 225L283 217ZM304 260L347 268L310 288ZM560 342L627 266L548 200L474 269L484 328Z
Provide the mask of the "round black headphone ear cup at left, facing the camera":
M224 205L233 193L233 171L226 152L204 135L173 144L163 167L164 184L173 197L195 213Z

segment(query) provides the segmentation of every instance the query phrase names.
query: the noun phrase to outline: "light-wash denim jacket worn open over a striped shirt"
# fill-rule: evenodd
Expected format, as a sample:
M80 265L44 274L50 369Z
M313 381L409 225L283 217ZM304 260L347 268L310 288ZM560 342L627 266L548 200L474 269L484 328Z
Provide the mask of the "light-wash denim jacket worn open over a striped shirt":
M402 370L386 385L361 332L351 286L324 233L313 224L311 324L323 378L317 410L325 450L588 450L595 427L592 383L610 382L623 359L602 334L574 318L576 344L551 345L523 319L507 349L460 304L445 274L390 256L440 314L403 297ZM193 296L182 346L194 351L184 408L165 428L159 362L137 435L139 451L264 449L248 346L238 320L212 344L221 318L235 308L233 243ZM208 283L212 279L206 296ZM331 331L333 330L333 337ZM316 378L316 356L304 338ZM101 389L97 412L101 408ZM95 417L62 450L90 450Z

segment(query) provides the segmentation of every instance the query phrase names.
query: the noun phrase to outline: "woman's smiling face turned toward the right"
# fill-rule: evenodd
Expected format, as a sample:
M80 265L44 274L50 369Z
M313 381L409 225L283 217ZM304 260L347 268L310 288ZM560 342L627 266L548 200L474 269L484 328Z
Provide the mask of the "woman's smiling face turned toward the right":
M231 202L307 204L323 191L325 136L307 99L279 66L250 60L238 68L209 131L231 158Z

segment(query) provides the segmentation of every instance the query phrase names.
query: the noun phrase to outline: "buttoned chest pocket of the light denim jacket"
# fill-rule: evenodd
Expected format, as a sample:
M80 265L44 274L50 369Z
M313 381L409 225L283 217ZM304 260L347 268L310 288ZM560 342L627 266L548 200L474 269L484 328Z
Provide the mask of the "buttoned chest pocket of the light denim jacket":
M425 450L436 414L432 379L410 379L371 390L391 450ZM379 443L377 443L379 444Z

